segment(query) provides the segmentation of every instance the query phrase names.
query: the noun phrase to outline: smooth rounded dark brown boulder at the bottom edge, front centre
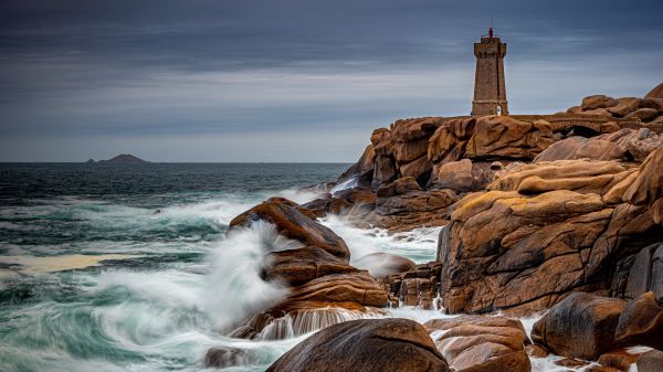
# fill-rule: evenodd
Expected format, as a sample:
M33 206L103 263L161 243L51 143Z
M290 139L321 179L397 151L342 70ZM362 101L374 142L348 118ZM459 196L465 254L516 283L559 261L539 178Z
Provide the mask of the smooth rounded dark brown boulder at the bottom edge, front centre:
M445 372L425 329L407 319L355 320L328 327L286 352L267 372Z

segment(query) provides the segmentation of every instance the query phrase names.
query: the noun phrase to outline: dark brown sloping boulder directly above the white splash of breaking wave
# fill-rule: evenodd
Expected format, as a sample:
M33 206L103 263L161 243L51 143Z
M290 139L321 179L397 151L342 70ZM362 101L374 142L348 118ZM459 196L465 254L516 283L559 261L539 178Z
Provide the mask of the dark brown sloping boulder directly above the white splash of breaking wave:
M287 238L322 248L348 262L350 251L343 238L330 228L315 222L312 219L315 217L313 213L306 215L295 205L294 202L284 199L270 199L234 217L230 222L230 228L249 227L255 221L265 221L274 224L278 234Z

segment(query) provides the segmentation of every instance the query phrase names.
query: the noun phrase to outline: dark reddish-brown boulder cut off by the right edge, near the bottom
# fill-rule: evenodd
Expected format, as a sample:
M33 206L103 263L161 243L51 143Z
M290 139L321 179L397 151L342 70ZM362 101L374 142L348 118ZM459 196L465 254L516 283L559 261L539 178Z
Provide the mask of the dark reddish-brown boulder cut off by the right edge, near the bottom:
M653 293L642 294L627 305L614 337L628 344L663 349L663 306L656 302Z

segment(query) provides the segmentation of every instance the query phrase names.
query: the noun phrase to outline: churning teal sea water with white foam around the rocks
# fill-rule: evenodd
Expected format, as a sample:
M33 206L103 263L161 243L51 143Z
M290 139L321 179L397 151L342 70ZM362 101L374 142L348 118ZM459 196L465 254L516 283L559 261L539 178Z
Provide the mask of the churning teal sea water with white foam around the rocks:
M264 371L315 325L285 329L285 340L224 334L287 294L260 279L257 258L296 243L267 224L225 236L228 224L270 196L311 200L297 189L348 166L0 164L0 370L201 371L207 350L227 346L250 351L246 365L228 371ZM435 254L436 228L388 235L338 216L322 222L354 258Z

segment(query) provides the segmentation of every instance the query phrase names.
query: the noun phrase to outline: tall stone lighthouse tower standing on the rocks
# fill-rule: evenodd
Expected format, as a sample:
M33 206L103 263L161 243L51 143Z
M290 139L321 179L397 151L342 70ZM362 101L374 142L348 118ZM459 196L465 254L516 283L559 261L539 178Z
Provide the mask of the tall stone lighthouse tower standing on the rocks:
M474 43L476 74L474 76L474 100L472 115L507 115L506 86L504 84L504 55L506 44L499 36L488 34Z

